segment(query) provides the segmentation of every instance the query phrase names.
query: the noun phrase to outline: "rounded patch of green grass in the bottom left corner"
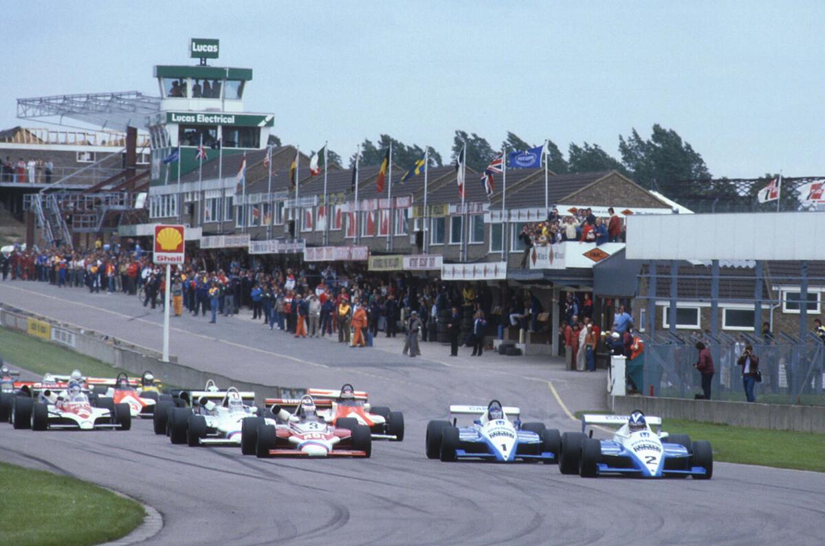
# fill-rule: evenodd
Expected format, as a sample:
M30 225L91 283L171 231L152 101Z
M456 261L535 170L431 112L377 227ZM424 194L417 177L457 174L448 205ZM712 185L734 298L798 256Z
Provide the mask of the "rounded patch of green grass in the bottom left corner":
M0 543L100 544L130 533L144 520L137 502L41 470L0 463Z

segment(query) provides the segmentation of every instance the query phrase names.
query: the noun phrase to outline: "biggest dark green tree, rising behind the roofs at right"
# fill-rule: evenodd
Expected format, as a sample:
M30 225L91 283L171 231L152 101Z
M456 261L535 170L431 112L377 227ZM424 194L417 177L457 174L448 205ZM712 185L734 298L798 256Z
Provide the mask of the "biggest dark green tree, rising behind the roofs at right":
M673 129L653 125L653 133L642 139L636 129L625 139L619 136L622 162L639 185L667 193L679 181L710 180L702 156L684 142Z

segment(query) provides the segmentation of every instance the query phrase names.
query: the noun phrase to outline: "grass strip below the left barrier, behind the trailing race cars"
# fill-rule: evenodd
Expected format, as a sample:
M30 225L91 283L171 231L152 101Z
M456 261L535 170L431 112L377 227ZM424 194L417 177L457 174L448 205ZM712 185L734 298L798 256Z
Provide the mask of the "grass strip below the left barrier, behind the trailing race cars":
M91 377L115 377L125 371L91 356L5 328L0 328L0 356L10 368L20 366L35 374L64 375L79 369L83 375Z

